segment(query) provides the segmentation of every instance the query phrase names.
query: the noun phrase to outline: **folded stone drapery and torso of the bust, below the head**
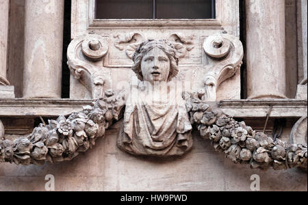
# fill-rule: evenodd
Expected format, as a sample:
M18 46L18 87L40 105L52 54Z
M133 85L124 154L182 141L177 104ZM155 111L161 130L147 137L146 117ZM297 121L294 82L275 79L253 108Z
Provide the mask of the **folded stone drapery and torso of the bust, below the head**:
M165 100L155 99L149 88L129 96L117 142L121 150L136 155L175 156L192 148L192 125L185 102L170 89L159 95L167 97Z

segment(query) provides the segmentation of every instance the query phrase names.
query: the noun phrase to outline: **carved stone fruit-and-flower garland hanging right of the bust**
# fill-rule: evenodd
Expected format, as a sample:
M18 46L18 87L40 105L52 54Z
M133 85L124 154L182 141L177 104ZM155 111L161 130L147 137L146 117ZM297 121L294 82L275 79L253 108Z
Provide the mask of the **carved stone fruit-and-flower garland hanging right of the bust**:
M287 169L307 166L307 144L273 141L256 133L245 122L237 122L218 108L200 100L198 94L183 94L192 124L205 139L210 139L218 152L233 163L250 164L252 169Z

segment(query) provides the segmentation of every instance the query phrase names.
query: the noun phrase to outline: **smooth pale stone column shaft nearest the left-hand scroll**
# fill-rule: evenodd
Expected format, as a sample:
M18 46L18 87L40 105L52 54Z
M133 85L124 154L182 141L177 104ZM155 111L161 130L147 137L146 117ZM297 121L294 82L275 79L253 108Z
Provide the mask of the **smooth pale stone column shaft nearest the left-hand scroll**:
M25 1L24 98L61 98L64 1Z

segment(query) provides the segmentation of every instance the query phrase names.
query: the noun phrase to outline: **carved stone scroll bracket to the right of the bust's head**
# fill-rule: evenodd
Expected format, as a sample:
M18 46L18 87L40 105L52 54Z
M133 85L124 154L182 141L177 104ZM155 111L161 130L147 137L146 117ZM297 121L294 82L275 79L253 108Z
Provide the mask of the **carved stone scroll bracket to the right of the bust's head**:
M203 49L209 59L209 71L205 74L203 83L205 95L203 100L215 101L220 83L229 79L240 69L244 57L242 42L235 36L218 33L209 36Z

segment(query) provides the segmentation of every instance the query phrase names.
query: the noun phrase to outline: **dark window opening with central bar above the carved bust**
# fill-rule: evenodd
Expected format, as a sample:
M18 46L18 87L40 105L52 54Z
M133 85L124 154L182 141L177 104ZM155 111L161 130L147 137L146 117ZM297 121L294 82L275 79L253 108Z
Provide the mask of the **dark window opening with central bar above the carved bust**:
M216 18L215 0L97 0L97 19Z

